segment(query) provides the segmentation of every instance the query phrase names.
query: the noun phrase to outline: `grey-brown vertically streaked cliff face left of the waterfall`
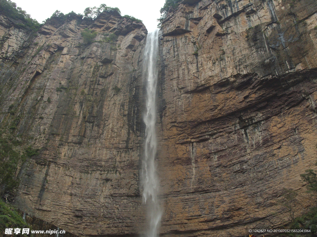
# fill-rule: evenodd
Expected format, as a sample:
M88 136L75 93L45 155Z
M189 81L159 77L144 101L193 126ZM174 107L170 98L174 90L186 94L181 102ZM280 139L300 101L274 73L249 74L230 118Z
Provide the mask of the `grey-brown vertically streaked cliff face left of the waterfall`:
M40 149L17 207L75 234L138 232L146 28L107 13L38 33L2 22L1 125ZM86 27L98 33L88 46Z

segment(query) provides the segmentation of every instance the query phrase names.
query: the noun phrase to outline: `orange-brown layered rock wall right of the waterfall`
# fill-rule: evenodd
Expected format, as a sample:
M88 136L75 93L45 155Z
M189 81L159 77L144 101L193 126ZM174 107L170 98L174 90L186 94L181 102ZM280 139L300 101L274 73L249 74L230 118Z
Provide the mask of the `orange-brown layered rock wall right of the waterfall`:
M169 236L242 236L312 204L317 2L185 0L160 37L159 173ZM298 209L300 215L303 209Z

